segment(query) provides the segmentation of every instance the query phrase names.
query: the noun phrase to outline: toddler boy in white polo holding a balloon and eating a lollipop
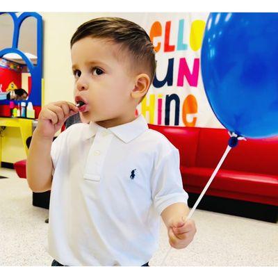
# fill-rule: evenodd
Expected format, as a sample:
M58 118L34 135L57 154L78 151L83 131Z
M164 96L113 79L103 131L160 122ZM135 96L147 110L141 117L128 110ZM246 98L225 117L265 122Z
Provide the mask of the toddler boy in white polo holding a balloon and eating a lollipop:
M84 105L44 106L27 159L31 190L51 189L53 265L148 265L158 248L160 217L170 245L186 247L196 229L186 221L179 150L136 117L156 71L149 36L126 19L92 19L72 36L71 55L74 100ZM52 143L78 112L83 123Z

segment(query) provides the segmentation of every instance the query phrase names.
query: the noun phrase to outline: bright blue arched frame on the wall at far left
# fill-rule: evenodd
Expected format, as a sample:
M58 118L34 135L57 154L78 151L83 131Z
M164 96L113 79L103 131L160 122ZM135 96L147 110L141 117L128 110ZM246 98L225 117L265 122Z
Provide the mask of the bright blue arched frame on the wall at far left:
M0 13L0 15L3 13ZM13 30L13 45L10 48L0 50L0 58L5 54L15 53L22 57L25 61L32 78L32 86L28 101L31 101L33 106L42 106L42 16L38 13L22 13L17 17L15 13L8 13L14 23ZM20 27L22 22L28 17L35 17L37 19L37 65L33 65L31 60L18 49L18 40ZM17 104L19 101L15 101ZM21 102L21 101L20 101ZM8 100L1 101L1 104L9 104Z

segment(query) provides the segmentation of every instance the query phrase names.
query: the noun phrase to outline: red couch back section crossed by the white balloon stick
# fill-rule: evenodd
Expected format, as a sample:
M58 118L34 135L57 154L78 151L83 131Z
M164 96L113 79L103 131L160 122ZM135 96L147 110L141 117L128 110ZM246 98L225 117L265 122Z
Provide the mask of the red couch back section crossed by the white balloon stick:
M227 148L227 129L202 128L199 133L196 166L215 168ZM240 140L220 169L277 175L278 137Z

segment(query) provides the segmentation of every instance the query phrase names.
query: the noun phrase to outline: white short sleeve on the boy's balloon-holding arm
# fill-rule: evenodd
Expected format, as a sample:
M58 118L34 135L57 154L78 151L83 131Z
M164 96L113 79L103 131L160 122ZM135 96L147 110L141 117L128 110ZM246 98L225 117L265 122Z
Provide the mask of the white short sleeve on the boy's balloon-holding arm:
M159 215L171 204L184 202L187 205L188 193L183 189L179 161L179 150L173 147L154 165L152 200Z

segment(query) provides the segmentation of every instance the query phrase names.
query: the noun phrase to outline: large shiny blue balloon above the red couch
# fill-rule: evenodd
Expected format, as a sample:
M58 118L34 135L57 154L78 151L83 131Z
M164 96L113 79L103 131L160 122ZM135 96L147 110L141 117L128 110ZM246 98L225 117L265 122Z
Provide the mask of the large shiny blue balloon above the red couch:
M229 131L278 135L278 13L211 13L201 66L211 108Z

